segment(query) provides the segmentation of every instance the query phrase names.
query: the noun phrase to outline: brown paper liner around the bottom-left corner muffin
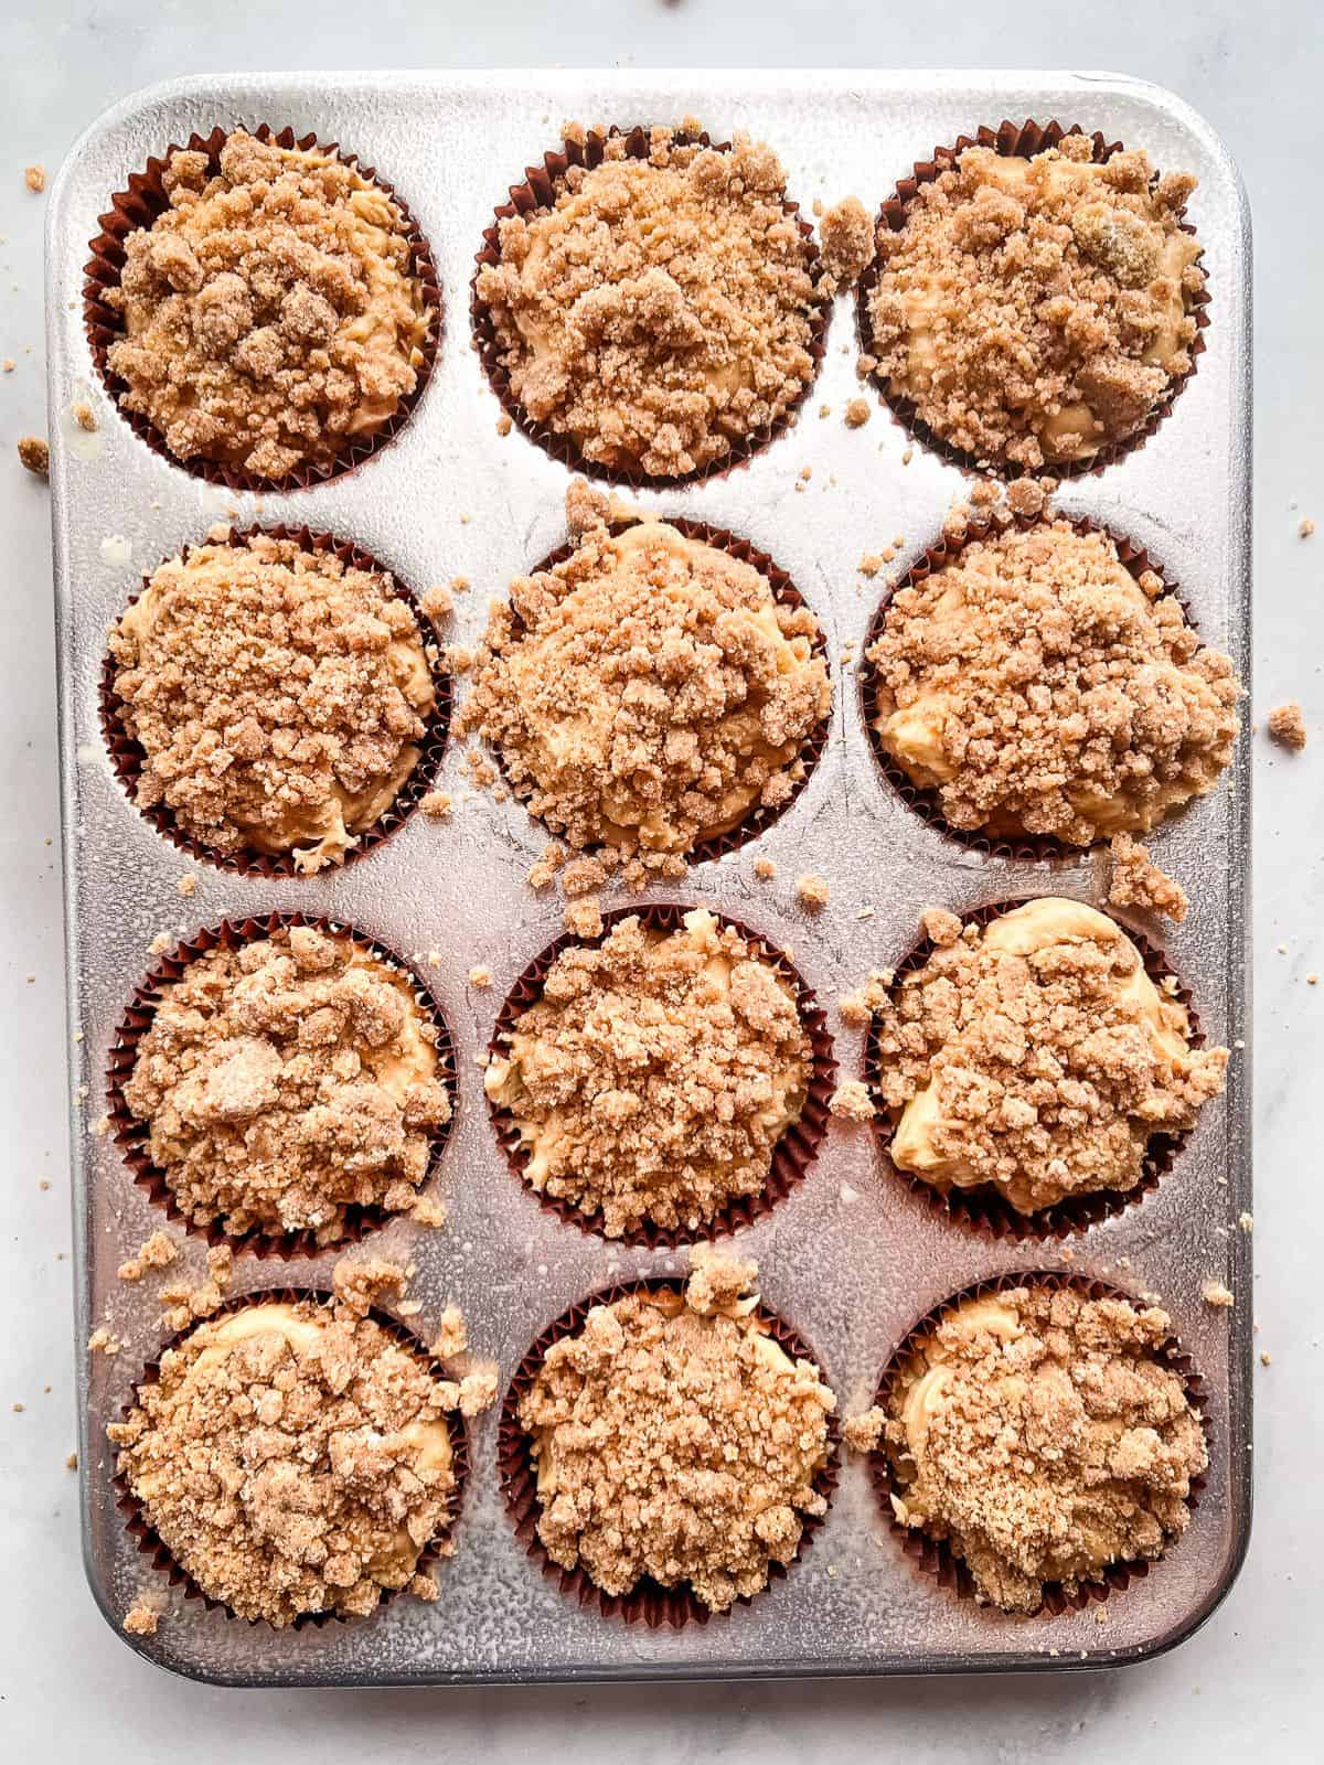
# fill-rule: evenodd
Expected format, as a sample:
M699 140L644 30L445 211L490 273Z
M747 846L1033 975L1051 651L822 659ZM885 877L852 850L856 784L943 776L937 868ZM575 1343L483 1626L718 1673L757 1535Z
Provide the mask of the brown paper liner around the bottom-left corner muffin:
M192 1324L189 1324L187 1329L178 1331L175 1336L169 1338L169 1341L162 1343L161 1354L157 1356L155 1361L148 1361L145 1364L141 1377L136 1378L131 1387L129 1401L120 1408L120 1417L127 1419L132 1414L132 1410L138 1405L138 1393L145 1386L154 1386L161 1377L161 1359L166 1354L169 1354L171 1348L178 1348L184 1338L191 1336L199 1324L208 1324L212 1318L224 1317L228 1311L242 1311L245 1306L272 1304L277 1301L290 1301L291 1304L297 1304L300 1299L312 1299L318 1301L320 1304L330 1306L334 1303L334 1294L328 1294L323 1288L316 1287L274 1287L270 1290L258 1290L252 1294L242 1294L235 1299L228 1299L222 1306L217 1306L217 1310L212 1311L208 1318L194 1320ZM427 1345L408 1327L408 1324L401 1324L399 1318L394 1318L388 1311L378 1310L378 1306L371 1306L367 1315L372 1318L374 1324L380 1324L383 1331L394 1336L395 1341L402 1343L420 1361L424 1361L438 1378L450 1377L445 1366L429 1352ZM436 1537L431 1537L427 1544L422 1548L418 1562L415 1564L415 1574L425 1574L433 1567L433 1564L440 1560L441 1546L454 1532L455 1521L464 1504L464 1484L470 1476L470 1437L468 1437L468 1428L464 1426L464 1417L459 1414L459 1410L447 1412L447 1428L450 1431L452 1470L455 1477L455 1488L452 1490L450 1497L450 1518L447 1520L443 1530L438 1532ZM124 1530L129 1534L131 1539L134 1539L138 1553L152 1560L152 1567L159 1574L166 1576L169 1587L182 1587L185 1601L198 1599L201 1601L205 1611L224 1611L224 1615L233 1622L244 1622L251 1626L267 1624L265 1619L240 1620L238 1613L231 1606L228 1606L221 1599L215 1599L212 1594L205 1592L198 1585L198 1581L194 1581L189 1571L184 1569L175 1560L164 1539L150 1525L143 1511L143 1504L129 1488L129 1483L120 1470L117 1470L115 1476L111 1477L111 1488L117 1491L115 1506L124 1514ZM404 1588L383 1587L381 1599L378 1601L376 1610L380 1611L383 1606L390 1604L390 1601L401 1592L404 1592ZM350 1620L351 1613L346 1611L335 1611L335 1610L300 1611L300 1615L291 1624L284 1626L284 1629L291 1631L302 1631L305 1627L321 1629L323 1624L332 1624L332 1622L348 1624Z

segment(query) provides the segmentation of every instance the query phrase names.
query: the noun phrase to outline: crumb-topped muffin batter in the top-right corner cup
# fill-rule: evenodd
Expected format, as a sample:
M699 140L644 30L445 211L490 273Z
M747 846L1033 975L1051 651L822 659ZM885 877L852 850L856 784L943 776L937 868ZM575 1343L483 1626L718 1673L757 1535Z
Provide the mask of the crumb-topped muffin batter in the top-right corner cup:
M978 461L1038 468L1123 441L1192 369L1195 187L1084 136L971 146L877 229L870 348L893 395Z

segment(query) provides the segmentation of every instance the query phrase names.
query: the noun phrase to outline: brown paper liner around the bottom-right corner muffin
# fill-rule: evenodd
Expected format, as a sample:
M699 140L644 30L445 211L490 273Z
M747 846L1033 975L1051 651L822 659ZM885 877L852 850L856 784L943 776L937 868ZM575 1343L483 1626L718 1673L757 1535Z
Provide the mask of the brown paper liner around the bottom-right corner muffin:
M891 1396L893 1378L897 1377L904 1363L911 1357L911 1354L916 1350L920 1340L929 1333L932 1333L948 1311L952 1311L955 1306L962 1304L967 1299L980 1299L987 1294L1008 1292L1013 1287L1047 1287L1050 1290L1073 1288L1075 1292L1084 1294L1086 1299L1126 1299L1132 1304L1137 1303L1135 1296L1125 1292L1121 1287L1112 1287L1109 1281L1098 1281L1084 1274L1063 1274L1059 1269L1043 1269L1043 1271L1013 1269L1006 1274L994 1276L992 1280L987 1281L974 1281L971 1287L964 1287L960 1292L952 1294L952 1297L944 1299L941 1304L932 1306L929 1311L925 1311L922 1318L918 1318L911 1326L906 1336L891 1350L891 1357L888 1359L888 1364L883 1368L883 1375L877 1382L877 1393L874 1394L874 1405L877 1408L886 1408L886 1403ZM1207 1396L1204 1380L1195 1371L1190 1356L1183 1352L1181 1343L1177 1341L1176 1336L1169 1336L1169 1340L1158 1350L1158 1357L1162 1357L1167 1363L1167 1366L1172 1368L1172 1371L1181 1375L1181 1380L1186 1387L1186 1396L1190 1398L1193 1408L1199 1410L1200 1426L1204 1428L1204 1442L1207 1449L1211 1444L1209 1440L1211 1428L1206 1408ZM989 1606L987 1601L978 1599L974 1590L974 1578L971 1576L964 1560L957 1557L957 1553L952 1550L952 1543L948 1539L929 1537L927 1534L918 1530L918 1527L907 1527L902 1525L900 1520L897 1520L895 1509L891 1506L891 1495L893 1491L897 1495L902 1495L902 1488L895 1479L891 1460L888 1458L883 1446L877 1446L869 1454L869 1472L874 1483L874 1490L877 1491L883 1514L886 1516L888 1525L891 1528L891 1536L900 1543L900 1548L911 1558L911 1562L923 1574L932 1576L932 1580L937 1581L939 1587L944 1587L950 1592L953 1592L959 1599L973 1599L983 1610L996 1611L997 1610L996 1606ZM1206 1484L1204 1474L1199 1477L1192 1477L1192 1486L1190 1486L1192 1493L1188 1500L1188 1506L1192 1509L1200 1506L1199 1491L1204 1488L1204 1484ZM1109 1564L1109 1567L1103 1571L1102 1581L1080 1581L1077 1583L1073 1592L1063 1587L1061 1581L1045 1581L1042 1606L1038 1608L1036 1613L1026 1613L1026 1617L1038 1617L1043 1611L1050 1613L1052 1617L1061 1617L1064 1611L1082 1611L1091 1603L1098 1604L1109 1599L1112 1594L1125 1592L1132 1581L1142 1581L1149 1574L1149 1569L1162 1560L1163 1560L1162 1557L1142 1557L1130 1562Z

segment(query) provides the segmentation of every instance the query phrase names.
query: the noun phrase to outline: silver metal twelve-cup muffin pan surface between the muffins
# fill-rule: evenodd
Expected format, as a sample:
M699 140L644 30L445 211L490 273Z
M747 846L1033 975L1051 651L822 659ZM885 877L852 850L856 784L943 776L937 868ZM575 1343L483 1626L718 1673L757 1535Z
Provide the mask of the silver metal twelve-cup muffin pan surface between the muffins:
M92 1590L118 1629L164 1578L125 1530L106 1423L169 1331L155 1281L129 1287L118 1264L164 1213L99 1133L118 1025L162 934L175 944L221 921L325 914L413 964L445 1013L459 1100L433 1190L443 1228L397 1220L355 1248L413 1266L425 1341L457 1303L470 1350L500 1368L494 1408L470 1424L470 1476L438 1571L434 1604L395 1599L367 1620L272 1631L175 1596L157 1634L132 1647L175 1671L245 1686L385 1686L584 1679L784 1677L1098 1668L1188 1636L1232 1583L1252 1491L1248 971L1250 764L1243 736L1230 775L1160 830L1151 849L1192 895L1181 927L1117 914L1158 943L1190 987L1209 1041L1234 1048L1227 1093L1200 1115L1153 1191L1066 1237L1017 1243L953 1220L897 1175L877 1137L835 1121L801 1183L720 1243L757 1257L771 1311L814 1350L849 1414L874 1396L916 1318L973 1283L1056 1269L1132 1294L1156 1294L1204 1382L1211 1465L1186 1536L1103 1604L1012 1619L959 1599L922 1573L890 1532L863 1460L840 1477L814 1550L749 1606L710 1624L627 1624L581 1606L544 1576L515 1536L500 1468L507 1384L530 1345L597 1288L683 1278L683 1248L611 1244L542 1207L505 1158L478 1066L507 994L561 934L556 891L526 877L545 833L524 808L473 791L450 741L438 784L450 821L413 814L360 861L318 877L238 875L169 844L129 801L106 750L99 687L106 628L150 572L215 522L309 526L371 551L402 584L468 577L447 641L473 644L489 598L565 540L568 471L533 439L498 432L501 415L471 348L470 281L507 189L542 164L561 124L632 125L696 115L713 139L770 141L787 191L810 215L842 196L870 212L934 148L1004 118L1079 124L1144 146L1155 166L1199 176L1188 219L1204 245L1209 325L1197 371L1144 445L1103 471L1066 480L1056 507L1126 535L1181 582L1202 637L1250 669L1250 240L1241 185L1211 129L1179 99L1107 74L861 72L493 72L219 76L157 86L83 136L51 192L48 231L49 424L55 530L69 1015L74 1089L79 1483ZM443 341L410 420L357 469L307 489L254 496L205 482L152 452L99 379L83 323L87 242L109 198L152 155L192 132L268 124L337 141L401 191L436 265ZM842 1077L863 1071L863 1038L835 1011L840 994L895 964L929 905L969 913L1061 893L1107 904L1102 852L982 854L943 835L881 771L861 717L858 660L890 574L941 537L971 480L913 439L856 378L856 309L840 295L817 383L789 432L726 475L637 492L639 507L727 528L768 552L828 639L833 711L826 747L791 808L756 840L708 860L641 902L708 905L793 957L828 1013ZM863 395L872 420L844 424ZM97 431L71 415L92 404ZM830 415L821 417L821 406ZM809 478L803 468L812 468ZM890 572L861 554L897 545ZM457 683L463 699L464 683ZM754 865L770 858L773 881ZM794 879L821 874L828 907L807 914ZM194 893L180 879L196 879ZM632 898L613 888L604 907ZM475 965L493 985L475 988ZM182 1262L201 1273L205 1243ZM325 1288L335 1251L277 1260L244 1251L231 1294ZM1232 1308L1202 1301L1223 1281ZM106 1324L117 1356L85 1352Z

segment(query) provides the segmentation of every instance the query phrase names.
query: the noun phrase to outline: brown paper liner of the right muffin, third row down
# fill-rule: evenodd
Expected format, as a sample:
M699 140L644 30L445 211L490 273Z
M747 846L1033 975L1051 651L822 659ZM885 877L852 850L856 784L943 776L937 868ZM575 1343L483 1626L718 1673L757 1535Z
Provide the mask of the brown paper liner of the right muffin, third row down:
M987 907L973 907L967 913L962 913L960 921L962 925L985 927L1001 918L1004 913L1010 913L1013 907L1022 907L1027 900L1036 898L1040 897L1022 895L1010 900L990 902ZM1177 981L1177 990L1170 997L1186 1011L1186 1020L1190 1024L1190 1045L1193 1048L1202 1048L1204 1033L1200 1029L1200 1018L1195 1010L1190 987L1186 987L1163 951L1156 944L1151 944L1142 932L1133 930L1130 925L1123 925L1116 914L1107 914L1107 918L1114 920L1119 930L1125 932L1125 935L1130 937L1140 951L1146 973L1153 983L1160 987L1160 990L1165 976L1170 974ZM911 953L897 964L897 983L904 974L913 974L916 969L922 969L932 957L934 950L934 943L929 937L922 937ZM877 1018L870 1017L869 1029L865 1033L865 1082L876 1110L874 1131L877 1135L879 1147L891 1165L891 1137L895 1133L895 1123L888 1119L888 1108L879 1093L881 1064L877 1048ZM1019 1213L1019 1209L1015 1209L1012 1202L990 1184L973 1190L959 1190L953 1186L944 1195L932 1183L925 1183L922 1175L911 1170L900 1170L897 1165L891 1165L891 1172L906 1183L911 1193L927 1200L934 1213L946 1214L946 1218L957 1221L957 1225L971 1227L985 1237L1010 1239L1024 1244L1029 1241L1064 1239L1075 1232L1086 1232L1091 1225L1098 1225L1102 1220L1112 1220L1117 1214L1126 1213L1128 1207L1135 1207L1146 1195L1151 1195L1169 1170L1172 1170L1177 1154L1188 1140L1190 1131L1151 1135L1146 1145L1144 1163L1140 1167L1140 1181L1135 1188L1093 1190L1089 1195L1068 1195L1064 1200L1054 1202L1052 1207L1040 1207L1029 1214Z

